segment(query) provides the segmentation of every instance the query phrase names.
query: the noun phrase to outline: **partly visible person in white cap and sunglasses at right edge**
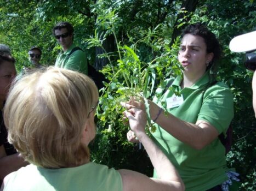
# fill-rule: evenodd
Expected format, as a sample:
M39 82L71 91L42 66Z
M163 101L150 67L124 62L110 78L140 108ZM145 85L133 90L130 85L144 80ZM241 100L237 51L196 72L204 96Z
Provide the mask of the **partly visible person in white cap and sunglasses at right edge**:
M239 35L230 41L229 48L233 52L246 52L246 68L252 70L253 109L256 118L256 31Z

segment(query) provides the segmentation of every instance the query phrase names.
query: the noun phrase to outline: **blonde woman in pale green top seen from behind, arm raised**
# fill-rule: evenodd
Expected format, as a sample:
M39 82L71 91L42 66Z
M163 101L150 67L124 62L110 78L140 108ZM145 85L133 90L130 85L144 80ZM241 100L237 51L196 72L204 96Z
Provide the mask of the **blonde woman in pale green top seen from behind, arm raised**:
M5 104L8 140L31 164L4 178L2 190L184 190L177 171L145 133L145 113L125 111L160 175L90 162L98 89L86 75L48 68L16 80Z

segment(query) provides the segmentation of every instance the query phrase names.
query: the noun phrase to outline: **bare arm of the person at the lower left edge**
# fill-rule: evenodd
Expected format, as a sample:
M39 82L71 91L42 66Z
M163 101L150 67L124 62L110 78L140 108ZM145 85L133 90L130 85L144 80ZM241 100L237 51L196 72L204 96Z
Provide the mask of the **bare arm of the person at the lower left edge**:
M0 180L3 180L10 172L16 171L28 164L19 153L7 156L3 145L0 146L0 156Z

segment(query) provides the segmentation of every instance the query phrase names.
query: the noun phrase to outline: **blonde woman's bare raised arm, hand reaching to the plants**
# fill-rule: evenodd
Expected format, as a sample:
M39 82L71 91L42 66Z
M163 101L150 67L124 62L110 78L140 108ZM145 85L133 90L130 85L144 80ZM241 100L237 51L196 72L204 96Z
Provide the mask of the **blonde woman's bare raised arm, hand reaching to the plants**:
M149 154L152 165L157 171L157 178L149 178L138 172L119 170L123 190L184 190L184 184L175 167L145 133L146 114L143 110L130 109L124 112L129 119L130 129L136 134L139 141L144 145Z

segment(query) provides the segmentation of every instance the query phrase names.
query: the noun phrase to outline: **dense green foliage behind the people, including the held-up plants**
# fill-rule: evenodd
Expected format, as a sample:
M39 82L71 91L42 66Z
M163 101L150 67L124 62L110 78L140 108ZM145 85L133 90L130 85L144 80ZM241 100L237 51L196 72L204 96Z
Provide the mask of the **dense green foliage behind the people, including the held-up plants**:
M130 95L151 97L163 79L180 75L176 34L187 23L205 23L223 45L218 79L234 93L234 144L227 162L241 174L241 190L256 190L252 73L243 66L244 54L229 50L233 37L255 29L253 0L0 0L0 21L0 43L11 47L18 71L29 64L33 45L42 48L42 63L53 65L61 48L52 27L58 21L72 23L75 43L87 50L91 64L106 59L103 73L110 80L100 98L92 160L147 175L152 166L145 152L126 141L120 102Z

